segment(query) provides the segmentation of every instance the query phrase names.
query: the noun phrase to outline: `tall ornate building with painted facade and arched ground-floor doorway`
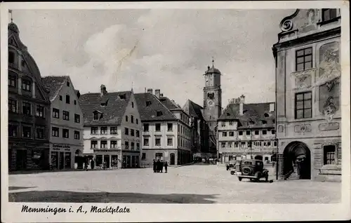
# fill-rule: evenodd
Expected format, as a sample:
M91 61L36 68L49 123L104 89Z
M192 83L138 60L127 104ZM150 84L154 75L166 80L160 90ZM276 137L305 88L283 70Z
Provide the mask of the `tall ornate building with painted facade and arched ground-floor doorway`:
M298 9L280 26L279 177L341 180L340 9Z

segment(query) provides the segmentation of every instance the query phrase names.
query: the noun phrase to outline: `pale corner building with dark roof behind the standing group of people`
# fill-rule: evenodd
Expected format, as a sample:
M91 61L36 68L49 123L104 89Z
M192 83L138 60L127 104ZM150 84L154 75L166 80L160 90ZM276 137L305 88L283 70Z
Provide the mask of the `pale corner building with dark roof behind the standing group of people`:
M159 89L155 94L152 89L137 93L135 99L143 123L143 164L152 165L153 160L169 165L190 163L190 123L183 109Z

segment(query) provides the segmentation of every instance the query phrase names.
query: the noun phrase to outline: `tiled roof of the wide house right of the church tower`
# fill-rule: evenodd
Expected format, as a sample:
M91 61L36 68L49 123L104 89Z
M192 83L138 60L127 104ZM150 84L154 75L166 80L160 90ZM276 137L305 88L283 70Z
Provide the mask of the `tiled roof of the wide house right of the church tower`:
M228 104L220 120L237 120L238 128L274 128L275 114L270 112L271 103L244 104L244 114L239 114L239 104Z

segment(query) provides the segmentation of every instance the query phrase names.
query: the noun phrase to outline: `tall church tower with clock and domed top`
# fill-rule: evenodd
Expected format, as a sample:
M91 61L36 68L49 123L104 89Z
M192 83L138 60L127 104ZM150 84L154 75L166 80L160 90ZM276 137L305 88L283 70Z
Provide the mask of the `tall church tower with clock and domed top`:
M210 130L215 130L217 119L222 114L222 89L220 89L220 71L213 65L207 67L204 87L204 119Z

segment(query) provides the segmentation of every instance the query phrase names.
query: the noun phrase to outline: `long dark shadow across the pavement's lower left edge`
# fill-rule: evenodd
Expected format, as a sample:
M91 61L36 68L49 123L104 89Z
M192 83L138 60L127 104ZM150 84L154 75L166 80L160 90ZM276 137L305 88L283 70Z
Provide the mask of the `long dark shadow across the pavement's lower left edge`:
M8 194L9 202L59 203L215 203L216 195L26 191Z

